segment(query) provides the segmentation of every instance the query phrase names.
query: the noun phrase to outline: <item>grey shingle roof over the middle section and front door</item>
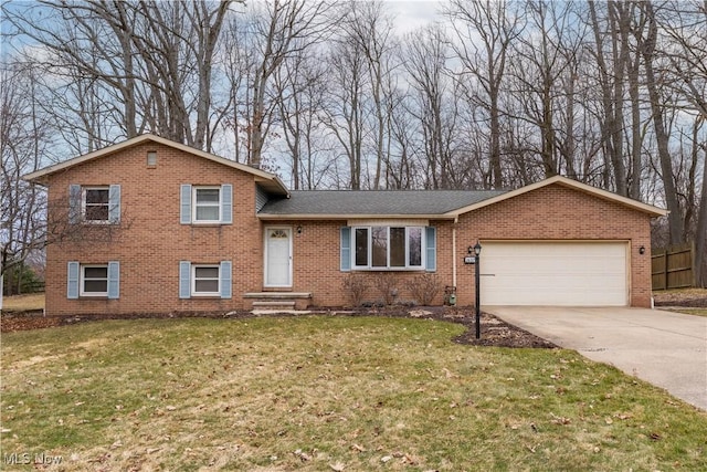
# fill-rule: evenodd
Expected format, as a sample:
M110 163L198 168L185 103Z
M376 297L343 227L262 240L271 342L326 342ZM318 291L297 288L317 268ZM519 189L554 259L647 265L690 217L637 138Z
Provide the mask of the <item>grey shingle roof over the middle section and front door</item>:
M499 190L299 190L268 201L258 212L273 216L444 214L499 196Z

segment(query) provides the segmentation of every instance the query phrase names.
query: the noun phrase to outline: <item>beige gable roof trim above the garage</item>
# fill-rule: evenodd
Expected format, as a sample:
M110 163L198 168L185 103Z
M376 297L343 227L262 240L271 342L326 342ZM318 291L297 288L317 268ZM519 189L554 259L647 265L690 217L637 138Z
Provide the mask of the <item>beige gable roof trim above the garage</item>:
M578 182L577 180L572 180L572 179L568 179L567 177L562 177L562 176L555 176L555 177L550 177L548 179L545 180L540 180L539 182L535 182L531 183L529 186L525 186L525 187L520 187L519 189L516 190L511 190L509 192L496 196L496 197L492 197L489 199L483 200L483 201L478 201L475 203L471 203L468 206L465 207L461 207L457 208L455 210L450 211L449 213L446 213L445 216L447 217L458 217L460 214L464 214L464 213L468 213L469 211L474 211L477 210L479 208L484 208L487 207L489 204L494 204L494 203L498 203L499 201L504 201L510 198L515 198L515 197L519 197L524 193L544 188L544 187L548 187L551 185L560 185L562 187L567 187L573 190L578 190L584 193L588 193L592 197L597 197L606 201L611 201L618 204L621 204L623 207L627 207L631 208L633 210L636 211L642 211L644 213L648 213L652 217L664 217L668 213L667 210L664 210L662 208L657 208L654 207L652 204L647 204L647 203L643 203L640 202L637 200L633 200L631 198L626 198L626 197L622 197L620 195L606 191L606 190L602 190L602 189L598 189L595 187L592 186L588 186L587 183L581 183Z

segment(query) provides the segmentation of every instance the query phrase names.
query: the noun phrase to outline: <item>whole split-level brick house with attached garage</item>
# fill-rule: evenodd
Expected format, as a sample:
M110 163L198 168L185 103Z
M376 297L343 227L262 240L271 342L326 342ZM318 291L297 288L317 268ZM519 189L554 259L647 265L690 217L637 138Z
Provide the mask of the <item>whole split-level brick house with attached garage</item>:
M51 315L342 306L349 274L387 274L402 302L434 274L469 305L476 242L482 305L651 306L650 221L666 214L559 176L513 191L289 191L154 135L25 179L48 188L59 239Z

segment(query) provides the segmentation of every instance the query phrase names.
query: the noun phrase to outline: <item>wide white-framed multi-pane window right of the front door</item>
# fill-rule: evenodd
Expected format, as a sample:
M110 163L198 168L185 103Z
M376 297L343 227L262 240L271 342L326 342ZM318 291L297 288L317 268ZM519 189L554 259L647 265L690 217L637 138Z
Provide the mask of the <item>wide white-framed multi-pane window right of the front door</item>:
M355 227L354 269L423 269L423 238L422 227Z

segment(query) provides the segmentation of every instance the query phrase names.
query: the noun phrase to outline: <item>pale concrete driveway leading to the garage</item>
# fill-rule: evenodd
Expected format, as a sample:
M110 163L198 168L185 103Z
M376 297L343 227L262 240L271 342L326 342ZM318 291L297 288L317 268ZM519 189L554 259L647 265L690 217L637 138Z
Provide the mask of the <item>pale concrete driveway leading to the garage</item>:
M707 410L707 317L623 307L483 310Z

